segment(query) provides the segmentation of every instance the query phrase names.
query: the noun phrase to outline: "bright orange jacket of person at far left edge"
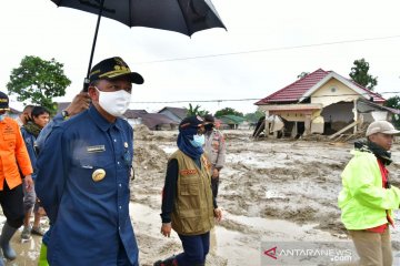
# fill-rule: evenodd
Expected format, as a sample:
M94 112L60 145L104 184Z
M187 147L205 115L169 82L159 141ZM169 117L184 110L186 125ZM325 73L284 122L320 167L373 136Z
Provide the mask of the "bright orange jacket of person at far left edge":
M19 168L23 176L33 172L20 127L10 117L0 121L0 191L4 187L4 180L10 190L22 184Z

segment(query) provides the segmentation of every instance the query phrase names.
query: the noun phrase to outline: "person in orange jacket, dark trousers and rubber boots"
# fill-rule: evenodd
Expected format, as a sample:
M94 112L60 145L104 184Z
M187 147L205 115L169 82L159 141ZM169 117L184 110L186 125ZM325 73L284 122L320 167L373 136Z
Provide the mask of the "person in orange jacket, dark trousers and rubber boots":
M17 121L7 116L9 98L0 92L0 204L6 224L0 236L0 247L6 258L17 257L10 239L23 224L23 192L32 190L32 165ZM21 175L23 176L21 178ZM4 265L0 258L0 266Z

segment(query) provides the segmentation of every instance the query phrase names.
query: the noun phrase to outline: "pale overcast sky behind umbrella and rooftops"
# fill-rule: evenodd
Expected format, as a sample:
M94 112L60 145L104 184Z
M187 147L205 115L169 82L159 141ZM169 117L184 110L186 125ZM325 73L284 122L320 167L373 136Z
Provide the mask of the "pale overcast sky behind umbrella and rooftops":
M228 31L211 29L188 38L102 19L93 64L122 57L146 80L133 89L132 100L140 103L130 108L148 111L188 103L143 102L262 99L301 72L319 68L348 78L353 61L361 58L378 76L377 92L400 92L399 0L212 2ZM11 70L23 57L54 58L72 81L59 100L70 101L82 88L97 17L57 8L50 0L3 1L1 9L0 90L6 90ZM211 112L231 106L247 113L256 111L254 102L194 105Z

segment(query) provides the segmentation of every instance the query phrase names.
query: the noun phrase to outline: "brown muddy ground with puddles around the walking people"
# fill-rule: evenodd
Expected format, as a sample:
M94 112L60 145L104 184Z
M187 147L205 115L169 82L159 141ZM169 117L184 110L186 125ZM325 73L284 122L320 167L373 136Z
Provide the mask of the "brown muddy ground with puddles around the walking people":
M177 132L136 127L131 217L141 265L152 265L181 250L176 234L160 234L161 190L168 155ZM259 140L251 131L224 131L227 164L221 171L218 204L224 218L211 232L208 265L261 265L261 242L346 239L337 196L340 173L350 158L351 143L304 140ZM391 182L400 185L400 145L392 150ZM43 221L46 223L46 219ZM36 265L40 237L21 244L19 258L8 265ZM392 229L394 248L400 233ZM398 249L398 248L397 248ZM251 262L249 264L249 262Z

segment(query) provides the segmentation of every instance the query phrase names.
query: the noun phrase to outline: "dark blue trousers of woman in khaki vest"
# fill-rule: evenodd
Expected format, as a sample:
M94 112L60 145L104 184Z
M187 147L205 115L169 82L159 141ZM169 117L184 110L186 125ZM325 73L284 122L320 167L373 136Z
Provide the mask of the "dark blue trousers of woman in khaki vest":
M179 235L183 253L177 256L179 266L204 265L206 256L210 249L210 232L202 235Z

